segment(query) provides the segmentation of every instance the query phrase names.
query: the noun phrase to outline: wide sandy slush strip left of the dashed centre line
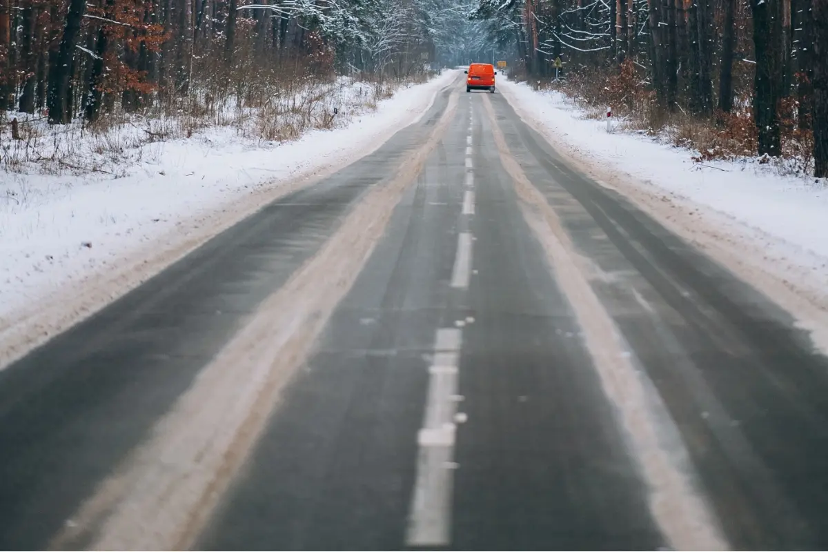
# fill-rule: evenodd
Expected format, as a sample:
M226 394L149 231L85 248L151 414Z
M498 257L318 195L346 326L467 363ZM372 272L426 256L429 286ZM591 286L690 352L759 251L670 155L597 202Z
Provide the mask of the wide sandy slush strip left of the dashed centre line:
M365 195L337 233L206 366L152 437L84 503L51 549L183 550L209 520L279 395L383 236L394 208L455 115Z

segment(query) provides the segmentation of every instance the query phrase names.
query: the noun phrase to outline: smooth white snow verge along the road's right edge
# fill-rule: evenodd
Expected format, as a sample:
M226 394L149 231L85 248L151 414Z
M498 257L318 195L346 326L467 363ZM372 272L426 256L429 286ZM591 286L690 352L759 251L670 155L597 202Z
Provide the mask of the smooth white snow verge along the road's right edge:
M828 352L828 189L768 166L710 161L606 130L568 98L503 79L517 113L573 166L618 190L787 310Z

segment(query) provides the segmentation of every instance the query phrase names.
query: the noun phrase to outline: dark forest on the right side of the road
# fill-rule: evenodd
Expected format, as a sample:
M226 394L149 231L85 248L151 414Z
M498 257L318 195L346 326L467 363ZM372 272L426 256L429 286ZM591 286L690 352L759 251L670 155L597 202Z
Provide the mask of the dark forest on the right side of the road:
M518 69L660 127L702 156L788 156L828 176L828 0L481 0ZM706 134L707 136L700 136Z

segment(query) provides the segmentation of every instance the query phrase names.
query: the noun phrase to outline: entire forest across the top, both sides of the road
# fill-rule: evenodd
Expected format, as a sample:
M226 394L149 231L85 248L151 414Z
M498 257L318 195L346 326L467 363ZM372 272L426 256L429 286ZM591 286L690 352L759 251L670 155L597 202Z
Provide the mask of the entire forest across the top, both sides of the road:
M701 156L828 176L826 54L828 0L0 0L0 112L94 122L501 56L537 83L560 58L575 97L710 122L686 132Z

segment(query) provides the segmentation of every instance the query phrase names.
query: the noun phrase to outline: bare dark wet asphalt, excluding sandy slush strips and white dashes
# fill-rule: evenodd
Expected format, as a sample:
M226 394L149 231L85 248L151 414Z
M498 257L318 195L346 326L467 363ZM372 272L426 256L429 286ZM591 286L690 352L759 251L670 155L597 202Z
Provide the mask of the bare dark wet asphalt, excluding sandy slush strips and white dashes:
M2 549L49 545L262 300L425 141L451 92L378 151L265 206L0 371ZM826 358L772 301L570 170L503 96L488 98L527 178L601 275L590 285L675 423L729 544L828 548ZM464 421L444 497L450 539L435 548L670 545L483 101L459 94L193 548L411 548L418 431L435 335L447 328L462 335ZM461 233L473 240L470 272L455 286Z

